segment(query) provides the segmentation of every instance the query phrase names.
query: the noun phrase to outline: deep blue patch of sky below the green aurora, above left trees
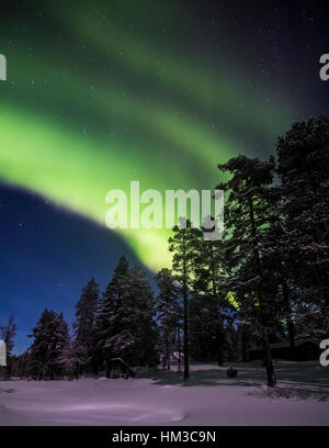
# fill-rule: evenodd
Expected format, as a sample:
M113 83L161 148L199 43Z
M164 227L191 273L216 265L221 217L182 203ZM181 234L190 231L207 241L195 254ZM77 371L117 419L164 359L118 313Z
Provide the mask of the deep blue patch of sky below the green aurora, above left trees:
M23 190L0 187L0 325L15 316L15 352L45 307L71 322L81 288L93 276L104 290L122 254L139 264L116 235Z

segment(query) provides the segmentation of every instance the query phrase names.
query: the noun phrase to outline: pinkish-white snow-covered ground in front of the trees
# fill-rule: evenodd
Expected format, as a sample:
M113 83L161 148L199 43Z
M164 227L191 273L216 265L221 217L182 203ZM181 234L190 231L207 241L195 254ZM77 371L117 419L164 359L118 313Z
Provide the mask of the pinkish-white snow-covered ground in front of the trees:
M329 368L276 362L279 385L264 369L236 363L191 367L189 385L173 371L139 378L0 381L0 425L329 425ZM144 376L144 378L141 378Z

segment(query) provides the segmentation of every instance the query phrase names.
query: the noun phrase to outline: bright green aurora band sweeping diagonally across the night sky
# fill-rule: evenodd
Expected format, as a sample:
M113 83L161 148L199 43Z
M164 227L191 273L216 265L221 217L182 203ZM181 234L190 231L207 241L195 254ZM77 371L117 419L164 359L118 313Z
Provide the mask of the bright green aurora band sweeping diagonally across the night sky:
M271 86L250 87L242 63L191 51L201 37L174 2L77 3L32 2L22 23L13 11L1 27L2 181L105 225L109 190L128 192L131 180L162 193L214 188L218 163L257 154L256 135L271 152L291 123ZM169 233L121 231L155 270L170 261Z

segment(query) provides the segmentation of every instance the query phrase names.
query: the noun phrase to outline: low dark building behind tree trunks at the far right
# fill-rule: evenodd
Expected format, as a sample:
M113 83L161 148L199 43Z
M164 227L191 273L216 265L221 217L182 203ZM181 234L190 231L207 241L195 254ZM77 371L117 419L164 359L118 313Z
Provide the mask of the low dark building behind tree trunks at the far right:
M288 341L271 344L273 359L284 359L287 361L314 361L320 357L319 345L313 340L296 340L295 350L292 352ZM253 347L247 350L249 361L262 360L263 350L261 347Z

